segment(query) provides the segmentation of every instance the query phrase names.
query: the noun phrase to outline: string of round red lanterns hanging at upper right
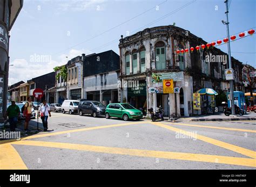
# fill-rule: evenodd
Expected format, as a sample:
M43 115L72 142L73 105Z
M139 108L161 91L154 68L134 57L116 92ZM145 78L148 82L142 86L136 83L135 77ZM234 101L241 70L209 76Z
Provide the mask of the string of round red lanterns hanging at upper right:
M255 32L255 31L254 31L253 29L251 29L251 30L249 30L247 33L250 34L250 35L252 35L252 34L254 34L254 32ZM245 37L245 32L239 33L239 37L240 37L240 38ZM232 36L230 37L230 39L231 39L232 41L235 40L236 38L237 38L237 37L236 37L235 35L232 35ZM229 40L228 38L224 38L224 39L223 39L223 41L224 41L225 43L228 42L228 40ZM222 40L217 40L217 44L218 44L218 45L220 45L221 43L222 43ZM215 43L214 41L212 41L211 43L207 43L206 45L202 44L201 46L196 46L195 48L197 49L197 52L198 52L199 49L200 49L200 47L204 50L205 46L207 47L207 49L209 49L211 46L214 47L215 44L216 44L216 43ZM185 53L188 53L188 51L189 51L188 48L185 48L185 50L184 50L184 49L180 49L180 50L177 49L177 50L176 50L176 53L177 53L177 54L180 54L180 53L183 54L184 52L185 52ZM190 51L193 52L193 51L194 51L194 47L190 47Z

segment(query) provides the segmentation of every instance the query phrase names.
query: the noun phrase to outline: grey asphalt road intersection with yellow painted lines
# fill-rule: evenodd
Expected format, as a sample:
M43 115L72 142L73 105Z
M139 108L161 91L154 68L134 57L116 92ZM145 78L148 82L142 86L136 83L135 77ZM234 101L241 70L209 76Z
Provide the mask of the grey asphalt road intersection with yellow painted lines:
M12 156L0 169L256 168L256 121L152 123L52 113L49 129L0 144Z

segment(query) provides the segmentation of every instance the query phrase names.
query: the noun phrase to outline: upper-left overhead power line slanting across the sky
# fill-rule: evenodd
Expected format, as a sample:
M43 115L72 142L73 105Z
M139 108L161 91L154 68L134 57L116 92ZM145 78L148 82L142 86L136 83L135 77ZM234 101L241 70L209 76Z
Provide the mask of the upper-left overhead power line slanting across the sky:
M164 4L164 3L166 3L166 2L167 2L167 0L165 0L164 2L162 2L162 3L160 3L160 4L156 5L156 6L159 6L159 5ZM84 44L85 42L90 41L91 39L97 38L97 37L99 37L99 36L102 35L102 34L105 34L105 33L109 32L109 31L112 31L114 28L117 28L117 27L119 27L119 26L121 26L121 25L123 25L123 24L125 24L125 23L127 23L127 22L129 22L129 21L131 21L131 20L133 20L133 19L135 19L135 18L137 18L137 17L139 17L139 16L142 16L144 13L149 12L149 11L151 11L152 9L155 9L156 6L153 6L152 8L150 8L150 9L148 9L148 10L142 12L142 13L139 13L137 16L134 16L134 17L132 17L132 18L130 18L130 19L124 21L123 23L120 23L120 24L118 24L118 25L116 25L116 26L110 28L109 30L106 30L106 31L104 31L104 32L102 32L102 33L99 33L99 34L95 35L94 37L91 37L91 38L89 38L89 39L87 39L87 40L85 40L85 41L80 42L79 44L76 44L76 45L74 45L74 46L71 46L71 47L69 47L69 48L66 48L66 49L64 49L63 51L60 51L60 52L55 53L55 54L53 54L53 55L62 53L62 52L64 52L64 51L67 51L67 50L69 50L69 49L71 49L71 48L73 48L73 47L76 47L76 46L79 46L79 45L81 45L81 44Z

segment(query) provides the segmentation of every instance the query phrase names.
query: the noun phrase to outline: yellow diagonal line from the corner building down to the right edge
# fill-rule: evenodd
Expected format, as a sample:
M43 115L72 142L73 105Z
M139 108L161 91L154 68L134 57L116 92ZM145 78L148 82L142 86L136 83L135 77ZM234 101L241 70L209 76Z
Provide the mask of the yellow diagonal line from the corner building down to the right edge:
M156 123L155 122L155 123L151 123L151 124L157 125L159 127L167 128L167 129L169 129L171 131L174 131L174 132L177 132L177 133L186 134L186 135L189 135L189 136L191 136L195 139L205 141L207 143L211 143L212 145L223 147L225 149L232 150L233 152L237 152L237 153L240 153L242 155L246 155L246 156L252 157L253 159L256 159L256 152L254 152L253 150L245 149L245 148L242 148L242 147L239 147L239 146L232 145L230 143L226 143L226 142L223 142L223 141L208 138L207 136L203 136L203 135L199 135L199 134L195 134L195 133L190 133L188 131L181 130L180 128L174 128L174 127L164 125L164 124L161 124L161 123Z

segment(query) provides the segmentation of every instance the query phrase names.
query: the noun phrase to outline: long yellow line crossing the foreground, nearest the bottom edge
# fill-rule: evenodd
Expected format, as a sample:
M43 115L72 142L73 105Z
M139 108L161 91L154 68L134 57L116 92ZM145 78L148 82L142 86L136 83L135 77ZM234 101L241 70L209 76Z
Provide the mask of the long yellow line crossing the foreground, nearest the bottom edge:
M231 156L163 152L163 151L157 151L157 150L127 149L127 148L117 148L117 147L103 147L103 146L80 145L80 144L73 144L73 143L30 141L30 140L13 142L12 144L63 148L63 149L72 149L72 150L84 150L84 151L97 152L97 153L155 157L159 159L187 160L187 161L223 163L223 164L233 164L238 166L256 167L255 159L247 159L247 158L231 157Z

